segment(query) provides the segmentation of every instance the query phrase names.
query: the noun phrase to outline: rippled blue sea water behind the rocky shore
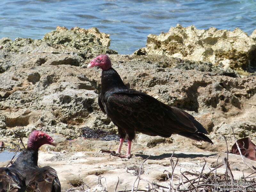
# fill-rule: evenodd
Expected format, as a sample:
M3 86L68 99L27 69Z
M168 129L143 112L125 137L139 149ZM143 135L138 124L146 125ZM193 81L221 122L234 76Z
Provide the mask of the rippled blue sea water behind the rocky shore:
M256 28L254 0L1 0L0 38L41 39L57 25L97 27L110 34L111 49L130 54L145 47L147 35L180 23L198 29Z

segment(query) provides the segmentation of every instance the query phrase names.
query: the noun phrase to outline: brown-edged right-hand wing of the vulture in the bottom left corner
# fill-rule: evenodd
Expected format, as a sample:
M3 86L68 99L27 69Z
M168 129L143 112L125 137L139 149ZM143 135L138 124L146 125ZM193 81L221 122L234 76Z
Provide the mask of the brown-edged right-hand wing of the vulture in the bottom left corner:
M57 172L50 166L36 169L33 174L26 177L28 190L44 192L60 192L60 180ZM54 189L53 189L54 188Z

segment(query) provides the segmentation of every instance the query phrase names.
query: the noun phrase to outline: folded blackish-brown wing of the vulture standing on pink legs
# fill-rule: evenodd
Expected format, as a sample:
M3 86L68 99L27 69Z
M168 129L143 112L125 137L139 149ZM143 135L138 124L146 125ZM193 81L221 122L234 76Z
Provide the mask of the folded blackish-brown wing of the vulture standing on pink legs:
M107 107L108 116L112 121L126 130L134 129L162 137L197 130L193 122L180 111L175 111L155 98L135 90L111 94Z

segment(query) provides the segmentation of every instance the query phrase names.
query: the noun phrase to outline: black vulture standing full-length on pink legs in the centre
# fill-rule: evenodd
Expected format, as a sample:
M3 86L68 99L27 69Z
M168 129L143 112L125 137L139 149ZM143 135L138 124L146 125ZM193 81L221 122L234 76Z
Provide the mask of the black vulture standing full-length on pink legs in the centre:
M119 147L115 156L131 157L131 143L135 132L150 136L170 137L176 133L197 141L212 143L204 127L187 112L170 107L145 93L128 89L106 54L99 55L87 66L102 69L101 93L98 97L100 109L118 128ZM126 155L120 155L124 138L127 137ZM212 143L213 144L213 143ZM110 152L109 150L102 150Z

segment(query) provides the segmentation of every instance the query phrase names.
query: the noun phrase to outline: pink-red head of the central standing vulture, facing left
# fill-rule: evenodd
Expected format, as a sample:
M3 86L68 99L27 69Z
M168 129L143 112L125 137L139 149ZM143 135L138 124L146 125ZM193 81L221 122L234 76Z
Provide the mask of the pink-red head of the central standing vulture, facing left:
M111 68L111 61L106 54L99 55L95 57L88 65L87 68L92 68L94 66L98 66L102 69L102 71L107 71Z

